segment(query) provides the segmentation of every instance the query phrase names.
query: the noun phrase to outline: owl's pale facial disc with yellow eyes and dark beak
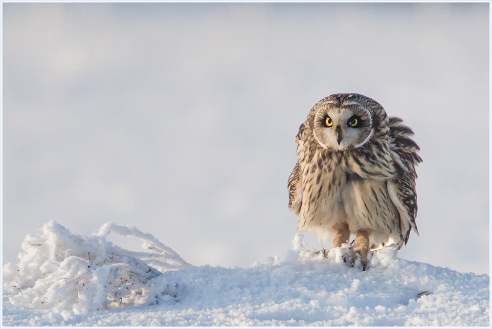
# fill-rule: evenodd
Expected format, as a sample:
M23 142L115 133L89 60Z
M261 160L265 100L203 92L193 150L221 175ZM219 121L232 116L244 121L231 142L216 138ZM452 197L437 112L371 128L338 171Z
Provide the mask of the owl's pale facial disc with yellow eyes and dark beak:
M314 136L327 150L355 149L364 145L372 135L372 118L358 105L320 107L314 122Z

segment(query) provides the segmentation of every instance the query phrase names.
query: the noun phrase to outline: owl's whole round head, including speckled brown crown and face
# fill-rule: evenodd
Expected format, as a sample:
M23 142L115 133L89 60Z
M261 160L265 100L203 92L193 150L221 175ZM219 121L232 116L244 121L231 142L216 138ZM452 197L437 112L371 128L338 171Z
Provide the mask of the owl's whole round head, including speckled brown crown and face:
M375 114L375 110L378 112ZM314 138L326 150L357 149L373 136L384 109L360 94L334 94L320 100L309 113Z

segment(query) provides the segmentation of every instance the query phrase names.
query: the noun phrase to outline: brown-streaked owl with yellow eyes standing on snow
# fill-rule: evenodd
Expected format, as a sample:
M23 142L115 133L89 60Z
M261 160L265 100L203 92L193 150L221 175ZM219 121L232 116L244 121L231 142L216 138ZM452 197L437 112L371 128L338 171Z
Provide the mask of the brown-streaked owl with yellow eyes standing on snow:
M417 235L415 166L422 162L413 131L356 93L323 98L294 138L298 162L288 179L289 209L298 229L335 234L333 247L355 234L363 270L368 252L400 249Z

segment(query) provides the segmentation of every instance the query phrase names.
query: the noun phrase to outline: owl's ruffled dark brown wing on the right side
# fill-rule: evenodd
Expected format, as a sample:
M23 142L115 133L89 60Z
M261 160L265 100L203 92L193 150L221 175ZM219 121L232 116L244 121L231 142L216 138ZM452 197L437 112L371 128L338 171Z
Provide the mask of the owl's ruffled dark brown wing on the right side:
M417 154L419 146L409 136L413 135L412 129L401 124L403 120L391 117L390 120L390 150L395 164L397 175L388 181L388 190L393 203L400 212L400 223L405 229L405 244L410 236L411 228L419 234L415 217L417 216L417 193L415 191L415 179L417 173L415 166L422 162ZM410 225L408 225L410 224ZM402 227L402 228L403 228ZM402 230L402 234L404 234Z

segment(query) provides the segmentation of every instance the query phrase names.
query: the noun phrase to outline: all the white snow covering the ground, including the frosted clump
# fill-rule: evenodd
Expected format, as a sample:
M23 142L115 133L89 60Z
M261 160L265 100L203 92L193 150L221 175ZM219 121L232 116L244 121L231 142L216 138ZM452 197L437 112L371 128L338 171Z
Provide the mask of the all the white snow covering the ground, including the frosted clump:
M141 239L135 252L110 233ZM194 267L135 227L50 221L3 267L3 326L490 326L490 277L348 248L293 248L249 268Z

